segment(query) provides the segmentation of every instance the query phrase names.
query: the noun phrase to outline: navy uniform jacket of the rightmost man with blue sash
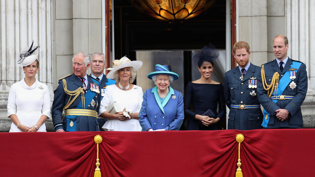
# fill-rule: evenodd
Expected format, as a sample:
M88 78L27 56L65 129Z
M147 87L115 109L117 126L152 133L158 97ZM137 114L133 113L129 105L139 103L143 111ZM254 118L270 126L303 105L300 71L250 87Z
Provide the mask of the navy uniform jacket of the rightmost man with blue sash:
M294 60L295 61L295 60ZM300 62L300 61L297 61ZM269 85L272 80L272 76L275 72L279 72L281 80L284 73L290 69L292 64L292 59L288 58L285 63L284 70L281 72L280 67L276 59L264 64L265 77L267 84ZM267 95L267 91L263 89L262 83L258 84L258 100L265 110L270 114L270 119L268 122L268 128L302 128L303 126L303 116L301 112L301 105L305 99L308 85L308 78L306 72L306 65L301 64L296 72L296 78L293 80L297 87L291 89L288 86L284 89L282 95L294 96L293 99L278 100L275 104ZM290 81L291 83L292 81ZM278 109L286 109L289 111L289 118L281 121L275 116L275 111Z

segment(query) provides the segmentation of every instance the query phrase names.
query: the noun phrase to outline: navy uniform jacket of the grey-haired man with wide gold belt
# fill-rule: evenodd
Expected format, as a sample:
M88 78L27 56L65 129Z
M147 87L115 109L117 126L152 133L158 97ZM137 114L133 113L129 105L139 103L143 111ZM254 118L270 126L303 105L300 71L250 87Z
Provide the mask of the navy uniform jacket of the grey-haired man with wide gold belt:
M53 101L53 107L52 107L52 119L54 123L55 131L63 128L63 130L66 130L66 118L63 118L62 120L62 113L63 113L63 107L67 104L70 95L66 94L63 89L63 79L65 79L67 83L67 89L70 91L76 90L79 87L82 87L81 80L75 76L74 74L68 75L58 81L57 89L54 91L54 101ZM90 89L90 84L95 83L90 75L88 75L88 85L87 89ZM96 80L95 80L96 81ZM95 84L98 84L95 83ZM71 100L74 96L71 96ZM100 106L100 93L96 93L94 95L94 102L95 104L89 104L85 105L85 109L90 109L98 112L99 106ZM81 95L79 95L74 102L70 105L68 109L75 109L77 105L81 102ZM93 106L94 105L94 106ZM77 131L99 131L98 127L98 121L97 118L90 117L90 116L79 116L76 118L77 121Z

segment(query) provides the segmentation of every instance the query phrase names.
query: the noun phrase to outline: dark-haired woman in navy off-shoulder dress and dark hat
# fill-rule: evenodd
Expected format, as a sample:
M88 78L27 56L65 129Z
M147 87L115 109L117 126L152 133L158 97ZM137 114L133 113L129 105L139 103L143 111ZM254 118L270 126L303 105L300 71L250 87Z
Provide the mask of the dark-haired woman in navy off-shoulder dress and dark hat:
M188 119L187 130L221 130L225 127L223 86L211 79L213 59L218 57L219 52L207 46L201 49L201 54L194 56L198 59L201 77L189 82L185 89L184 110L185 118Z

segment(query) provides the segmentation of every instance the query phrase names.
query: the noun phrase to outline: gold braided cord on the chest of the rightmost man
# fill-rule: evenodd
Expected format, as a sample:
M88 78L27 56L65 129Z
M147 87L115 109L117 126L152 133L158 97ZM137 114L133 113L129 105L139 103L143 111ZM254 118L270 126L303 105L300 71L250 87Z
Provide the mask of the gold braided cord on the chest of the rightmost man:
M274 75L272 76L272 80L270 85L267 84L266 77L265 77L265 68L264 65L261 66L261 80L262 80L262 86L264 87L265 90L267 90L267 95L270 98L272 93L274 92L277 94L278 92L278 85L279 85L279 73L275 72ZM271 89L271 90L270 90Z

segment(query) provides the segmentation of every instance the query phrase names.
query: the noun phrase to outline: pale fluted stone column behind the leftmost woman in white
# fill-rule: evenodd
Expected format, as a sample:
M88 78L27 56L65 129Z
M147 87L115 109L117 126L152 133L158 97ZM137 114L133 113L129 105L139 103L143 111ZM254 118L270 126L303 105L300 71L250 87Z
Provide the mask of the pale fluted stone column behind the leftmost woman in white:
M36 78L47 84L53 95L51 0L1 0L0 29L0 132L3 132L8 131L11 124L6 112L10 86L24 78L22 68L16 66L16 59L32 40L40 46ZM51 121L46 123L51 124Z

